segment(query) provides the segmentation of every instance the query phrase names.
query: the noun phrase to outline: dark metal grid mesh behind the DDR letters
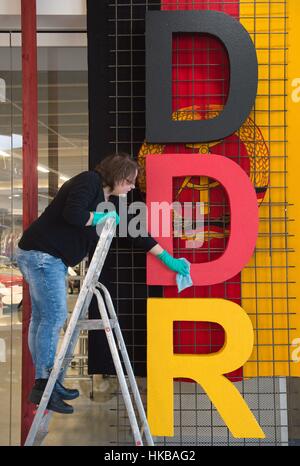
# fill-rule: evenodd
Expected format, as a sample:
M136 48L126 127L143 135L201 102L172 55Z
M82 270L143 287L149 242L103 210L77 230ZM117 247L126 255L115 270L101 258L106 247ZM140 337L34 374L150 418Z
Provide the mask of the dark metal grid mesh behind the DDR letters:
M289 310L289 300L293 298L289 296L288 289L288 271L292 267L289 259L291 251L288 248L288 226L292 219L288 218L290 204L286 183L286 3L286 1L256 0L185 2L186 9L199 9L197 6L200 6L204 9L231 13L247 27L259 58L259 89L251 114L251 124L247 121L244 130L247 133L247 130L251 130L251 125L252 127L255 125L259 128L259 132L250 135L248 146L243 140L242 132L239 131L233 139L219 142L218 147L210 148L208 145L205 147L195 144L183 147L178 144L169 146L165 150L165 152L181 152L184 149L184 152L195 153L207 151L224 156L233 154L231 157L248 171L249 176L251 174L255 185L261 205L259 239L253 259L241 274L222 284L221 290L220 287L216 289L215 286L205 287L203 294L203 287L201 293L193 287L193 294L189 296L219 296L230 299L241 304L251 317L256 341L251 360L246 364L243 372L246 377L259 378L246 380L240 371L232 375L232 380L237 381L236 386L254 412L267 438L260 441L233 439L201 387L194 383L178 381L175 383L175 437L157 439L157 444L277 445L287 442L285 379L276 377L290 374L288 345L293 326L291 321L293 313ZM182 5L182 2L165 2L165 9L179 9L179 4ZM232 10L226 10L226 5ZM108 1L108 7L110 144L112 150L129 151L137 157L144 143L145 133L144 16L147 10L161 9L161 2ZM195 115L195 107L199 106L201 118L213 117L226 101L229 79L226 54L218 40L193 34L190 35L192 53L190 47L188 50L188 59L191 61L187 63L184 50L186 37L187 35L183 34L175 37L176 53L173 42L175 91L172 117L178 118L178 110L183 98L185 107L190 107L186 111L187 114L192 112ZM199 49L201 61L197 63L195 57ZM187 93L183 94L178 87L181 67L185 67L190 85ZM214 80L217 85L212 87ZM187 114L183 117L187 117ZM271 154L271 163L265 166L256 163L262 147L261 136L268 156ZM252 165L249 162L249 148L252 150ZM268 179L267 186L262 182L259 184L261 178ZM196 262L196 258L199 261L199 255L202 255L202 261L211 260L220 256L226 247L228 238L226 230L229 227L228 202L225 191L220 187L218 196L214 197L215 187L211 185L214 180L203 178L199 180L198 177L197 180L192 178L190 182L201 185L200 191L194 186L191 188L191 193L193 202L199 201L199 192L202 194L206 209L207 241L201 249L191 250L189 259ZM174 197L181 183L182 180L174 180ZM217 228L214 228L216 226ZM214 236L218 239L215 240ZM174 241L174 247L175 254L180 255L183 252L180 240ZM143 253L120 248L118 242L114 253L117 309L121 323L122 315L131 318L131 326L127 333L129 351L135 365L143 362L145 357L145 296L161 296L161 290L159 287L149 289L145 285ZM129 262L128 257L130 257ZM134 282L136 284L133 284ZM130 284L131 294L126 296ZM170 289L163 290L163 295L170 296ZM128 320L126 322L128 326ZM220 338L217 343L214 340L215 333L219 333L219 337L221 334L221 329L218 327L210 324L206 329L201 329L202 350L204 345L207 345L210 351L216 351L222 346ZM180 325L176 329L179 335L183 331ZM196 326L195 331L197 332ZM208 341L203 332L208 333ZM189 352L186 348L180 348L180 341L178 347L181 352ZM286 351L283 350L284 348ZM195 351L195 347L193 350ZM116 443L130 443L130 432L120 397L117 400L116 411L118 414Z

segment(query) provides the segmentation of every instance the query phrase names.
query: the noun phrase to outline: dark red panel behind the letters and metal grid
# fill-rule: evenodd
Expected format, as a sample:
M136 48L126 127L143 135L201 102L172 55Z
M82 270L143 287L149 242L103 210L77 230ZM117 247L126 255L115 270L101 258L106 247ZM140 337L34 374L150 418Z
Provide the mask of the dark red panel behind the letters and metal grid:
M236 19L239 19L239 0L231 0L227 2L225 0L161 0L161 10L216 10L227 13ZM199 42L199 50L194 47L195 41ZM202 42L202 45L201 45ZM191 64L194 62L199 62L201 54L200 49L205 47L206 54L201 56L202 64L201 70L202 74L199 74L200 67L194 69ZM183 49L185 50L183 52ZM195 50L196 49L196 50ZM183 66L181 63L180 68L176 66L176 62L182 61L182 55L185 55L186 66ZM213 64L214 66L210 66ZM203 66L206 65L206 66ZM229 66L226 53L224 54L224 47L214 37L201 37L194 34L192 37L189 34L180 35L173 38L173 98L172 98L172 110L177 111L181 108L197 105L203 108L204 112L203 118L206 118L208 112L215 104L224 104L224 99L229 84ZM196 73L196 74L195 74ZM196 79L195 79L196 77ZM213 79L212 79L213 78ZM205 88L201 90L201 94L197 95L197 86L201 86L200 80L202 83L205 83ZM187 83L188 81L188 83ZM193 81L194 82L193 84ZM175 85L176 82L176 85ZM203 92L202 92L203 91ZM194 97L193 97L194 96ZM249 173L249 156L247 154L244 144L238 140L237 137L231 136L227 138L224 142L220 141L219 144L215 145L212 149L215 154L220 154L225 157L233 158L242 166L247 173ZM177 145L165 145L163 153L188 153L194 152L192 149L188 148L186 145L177 144ZM183 179L181 180L184 181ZM199 184L198 179L193 178L192 180L196 184ZM175 183L174 183L175 188ZM173 191L173 198L177 195L177 190ZM219 257L221 253L215 251L223 251L224 246L226 246L226 238L224 238L224 227L218 227L212 225L210 221L214 218L218 218L224 215L223 209L227 209L227 206L221 207L224 204L222 190L218 187L209 189L210 204L219 205L219 207L212 207L210 205L210 213L208 218L208 226L206 229L208 233L211 230L213 232L220 233L220 238L211 238L209 242L205 242L203 249L208 250L208 253L204 253L199 250L195 252L190 257L188 257L188 250L184 251L181 255L187 257L190 260L196 260L197 262L204 262L205 260L210 260L212 258ZM180 201L188 201L194 199L194 192L192 189L183 189L183 191L176 197ZM209 233L210 234L210 233ZM223 238L221 237L223 235ZM176 249L183 251L185 248L184 241L181 238L177 238ZM179 254L176 254L176 257L179 257ZM229 282L219 283L212 286L193 286L184 290L181 293L181 297L219 297L230 299L231 301L241 304L241 277L238 274L236 277L232 278ZM163 296L165 297L178 297L177 287L176 286L167 286L164 287ZM198 346L196 348L197 353L207 353L211 351L216 351L221 348L224 344L224 332L216 324L209 323L195 323L194 325L194 334L189 337L180 335L178 328L181 324L174 324L174 343L178 346L174 348L175 352L183 353L188 352L187 348L194 346L195 338L198 338L200 341L209 340L209 346L206 349L203 346ZM207 338L208 337L208 338ZM186 343L186 348L183 348L181 345ZM216 347L217 346L217 347ZM234 371L230 374L229 378L232 380L240 380L242 376L242 369Z

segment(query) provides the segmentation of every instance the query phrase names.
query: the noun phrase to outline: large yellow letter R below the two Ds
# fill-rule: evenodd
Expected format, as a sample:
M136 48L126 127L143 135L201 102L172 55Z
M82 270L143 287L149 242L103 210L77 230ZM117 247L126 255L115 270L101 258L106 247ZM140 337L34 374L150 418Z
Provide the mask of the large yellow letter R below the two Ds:
M238 389L223 375L242 366L253 348L253 327L246 312L224 299L149 298L148 420L153 435L173 436L173 379L198 382L236 438L264 438ZM217 353L174 354L175 321L216 322L226 343Z

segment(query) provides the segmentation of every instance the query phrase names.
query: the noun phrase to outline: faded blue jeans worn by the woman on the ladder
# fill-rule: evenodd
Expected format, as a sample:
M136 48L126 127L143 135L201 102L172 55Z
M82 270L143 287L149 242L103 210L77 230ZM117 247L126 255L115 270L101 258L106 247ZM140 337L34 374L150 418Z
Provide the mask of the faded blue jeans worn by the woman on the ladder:
M29 285L31 319L28 345L35 378L47 379L54 363L60 330L67 318L67 266L40 251L17 248L16 261Z

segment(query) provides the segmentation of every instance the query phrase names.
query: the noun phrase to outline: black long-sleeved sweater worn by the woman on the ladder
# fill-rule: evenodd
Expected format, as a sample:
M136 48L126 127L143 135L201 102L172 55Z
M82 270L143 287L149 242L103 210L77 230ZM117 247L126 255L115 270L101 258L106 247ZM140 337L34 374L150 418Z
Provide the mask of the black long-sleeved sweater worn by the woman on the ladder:
M98 172L86 171L74 176L62 185L40 217L24 231L19 247L46 252L71 267L78 264L99 240L96 227L85 225L90 212L104 201ZM151 236L130 239L134 246L145 251L157 244Z

